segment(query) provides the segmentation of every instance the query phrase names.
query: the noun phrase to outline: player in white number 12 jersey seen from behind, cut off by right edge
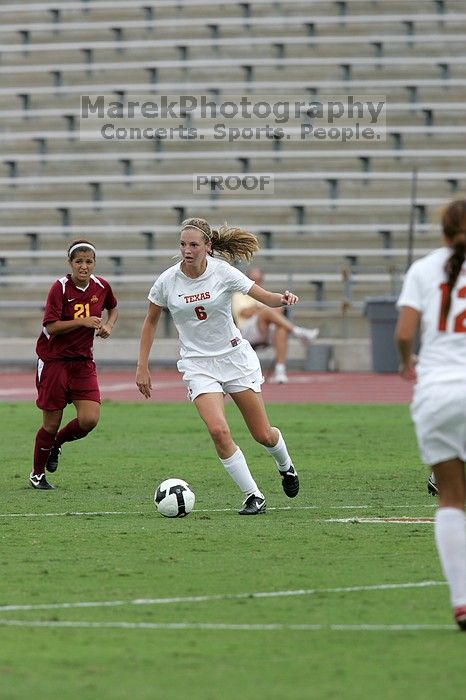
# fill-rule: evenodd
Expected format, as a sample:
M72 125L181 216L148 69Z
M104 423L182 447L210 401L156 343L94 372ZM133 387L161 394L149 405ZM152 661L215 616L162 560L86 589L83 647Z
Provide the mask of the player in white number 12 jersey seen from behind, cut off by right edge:
M435 542L454 618L466 631L466 200L446 207L442 225L444 247L408 270L395 337L401 376L417 380L411 415L438 488Z

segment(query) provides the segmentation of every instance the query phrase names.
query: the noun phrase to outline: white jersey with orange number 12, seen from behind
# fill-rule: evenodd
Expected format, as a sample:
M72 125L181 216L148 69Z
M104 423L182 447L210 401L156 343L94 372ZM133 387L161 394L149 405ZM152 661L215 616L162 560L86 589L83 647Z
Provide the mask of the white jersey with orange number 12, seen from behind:
M451 248L438 248L411 265L397 306L422 314L421 351L416 366L418 384L426 386L466 379L466 263L451 295L448 317L445 263Z

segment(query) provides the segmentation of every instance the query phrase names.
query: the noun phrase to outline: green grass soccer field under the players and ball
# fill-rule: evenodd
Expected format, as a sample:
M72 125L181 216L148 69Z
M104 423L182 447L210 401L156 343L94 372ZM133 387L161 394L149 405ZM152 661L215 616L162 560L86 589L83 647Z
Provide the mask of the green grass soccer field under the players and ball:
M432 524L361 521L433 516L408 408L269 406L300 472L293 501L228 412L266 516L236 514L190 405L106 402L38 492L40 414L0 404L1 699L462 697L466 635ZM170 476L196 493L187 518L155 512ZM5 608L21 605L49 607Z

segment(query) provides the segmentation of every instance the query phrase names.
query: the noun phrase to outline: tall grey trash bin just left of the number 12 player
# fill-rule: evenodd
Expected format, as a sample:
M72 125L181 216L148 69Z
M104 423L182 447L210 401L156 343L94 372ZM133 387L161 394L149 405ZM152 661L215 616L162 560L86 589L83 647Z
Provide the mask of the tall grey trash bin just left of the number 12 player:
M374 372L398 372L398 353L394 334L398 319L398 297L368 297L364 315L370 323L372 369Z

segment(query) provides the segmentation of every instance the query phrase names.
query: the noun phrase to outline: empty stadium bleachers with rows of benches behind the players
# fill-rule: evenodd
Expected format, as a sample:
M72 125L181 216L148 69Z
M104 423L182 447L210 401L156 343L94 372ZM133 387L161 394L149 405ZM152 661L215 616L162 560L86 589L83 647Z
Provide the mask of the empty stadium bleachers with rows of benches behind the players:
M437 244L439 207L464 192L463 10L459 0L1 3L0 343L15 304L18 335L36 334L78 235L95 240L131 309L121 338L134 337L177 225L195 214L257 232L266 283L293 283L299 322L325 342L367 340L364 300L397 293L412 229L419 256ZM105 142L80 122L82 94L382 96L386 124L371 142L300 138L305 114L287 138ZM212 128L197 109L180 123ZM274 191L225 193L208 180L197 192L194 174L271 175Z

